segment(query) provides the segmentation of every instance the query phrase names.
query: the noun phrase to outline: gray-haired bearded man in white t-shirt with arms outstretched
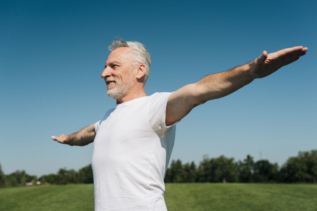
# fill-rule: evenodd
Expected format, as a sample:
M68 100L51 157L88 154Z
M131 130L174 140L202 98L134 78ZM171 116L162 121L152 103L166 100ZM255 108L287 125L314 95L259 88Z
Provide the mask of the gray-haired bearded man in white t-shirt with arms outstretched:
M167 210L164 177L176 123L194 107L266 77L304 55L307 47L286 48L228 71L204 77L172 93L146 96L150 55L139 42L116 38L101 73L107 95L117 100L104 117L71 135L52 136L63 144L94 142L95 210Z

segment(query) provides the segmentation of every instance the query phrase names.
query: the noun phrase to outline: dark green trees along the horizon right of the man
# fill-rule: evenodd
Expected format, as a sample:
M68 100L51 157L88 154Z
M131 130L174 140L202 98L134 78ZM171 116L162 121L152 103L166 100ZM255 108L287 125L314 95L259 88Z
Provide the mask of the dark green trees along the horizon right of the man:
M317 150L312 150L288 158L281 168L268 160L254 161L250 155L238 162L223 155L204 156L198 167L194 162L182 164L179 159L173 160L164 182L316 183L316 179Z

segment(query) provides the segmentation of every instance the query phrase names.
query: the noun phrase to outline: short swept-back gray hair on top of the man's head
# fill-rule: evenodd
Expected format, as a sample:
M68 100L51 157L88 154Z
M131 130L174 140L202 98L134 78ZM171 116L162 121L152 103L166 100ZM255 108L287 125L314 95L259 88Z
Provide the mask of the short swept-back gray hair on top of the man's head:
M151 58L149 52L146 50L146 47L137 41L123 41L120 37L116 37L112 40L111 44L109 45L108 49L113 51L116 48L120 47L129 47L133 52L133 60L135 65L137 64L144 64L146 68L146 73L144 77L144 84L149 78L150 74L150 67L151 67Z

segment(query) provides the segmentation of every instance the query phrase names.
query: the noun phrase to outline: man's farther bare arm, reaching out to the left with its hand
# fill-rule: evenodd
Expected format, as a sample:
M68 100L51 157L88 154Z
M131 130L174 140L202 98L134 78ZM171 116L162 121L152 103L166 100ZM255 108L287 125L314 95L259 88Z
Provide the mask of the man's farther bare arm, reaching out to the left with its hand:
M70 146L85 146L94 142L96 136L94 124L89 125L71 135L61 134L60 136L52 136L51 138L62 144L68 144Z

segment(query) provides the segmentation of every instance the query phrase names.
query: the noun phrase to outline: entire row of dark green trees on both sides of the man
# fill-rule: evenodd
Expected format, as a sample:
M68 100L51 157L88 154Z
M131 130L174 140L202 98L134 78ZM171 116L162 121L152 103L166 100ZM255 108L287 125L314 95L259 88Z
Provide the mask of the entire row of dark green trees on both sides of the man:
M200 182L242 182L242 183L316 183L317 150L299 152L290 157L281 167L268 160L254 161L247 157L235 162L234 158L204 156L199 165L194 162L182 164L181 160L172 160L166 171L164 182L200 183ZM0 187L24 186L26 182L40 181L41 184L93 183L91 164L79 171L61 168L57 174L43 175L39 178L25 171L16 171L4 175L0 165Z

